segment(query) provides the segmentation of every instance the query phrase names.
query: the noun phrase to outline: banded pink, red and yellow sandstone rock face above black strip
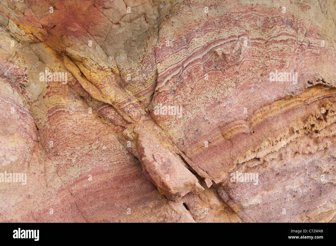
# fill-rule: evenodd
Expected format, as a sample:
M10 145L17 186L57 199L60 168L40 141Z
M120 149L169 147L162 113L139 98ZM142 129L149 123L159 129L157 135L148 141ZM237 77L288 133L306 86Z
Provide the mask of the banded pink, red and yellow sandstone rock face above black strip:
M0 222L336 222L335 6L1 1Z

